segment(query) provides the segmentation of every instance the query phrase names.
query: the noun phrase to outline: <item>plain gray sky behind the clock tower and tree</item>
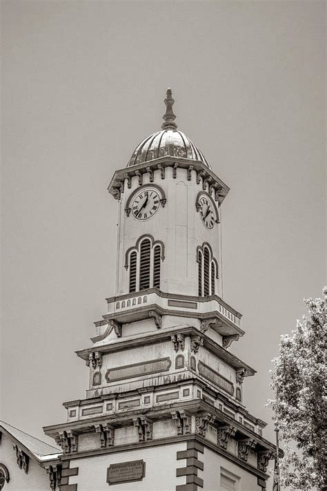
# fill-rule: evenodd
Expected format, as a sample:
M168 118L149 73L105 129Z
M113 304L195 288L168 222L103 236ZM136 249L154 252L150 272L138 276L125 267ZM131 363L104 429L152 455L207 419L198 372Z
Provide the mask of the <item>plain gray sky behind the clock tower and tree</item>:
M106 187L157 131L179 129L231 188L224 300L232 352L258 374L304 296L324 286L325 3L3 1L1 417L43 437L83 398L92 322L115 294L117 202ZM266 436L273 438L272 426ZM46 439L43 437L43 439Z

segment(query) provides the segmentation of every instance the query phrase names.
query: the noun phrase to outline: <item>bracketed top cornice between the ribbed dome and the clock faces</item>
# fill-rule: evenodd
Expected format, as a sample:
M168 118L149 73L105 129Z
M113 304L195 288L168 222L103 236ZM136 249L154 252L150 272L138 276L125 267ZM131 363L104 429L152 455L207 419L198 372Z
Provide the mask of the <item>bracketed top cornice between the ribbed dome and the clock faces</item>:
M125 180L127 180L128 187L130 187L130 180L133 176L137 175L139 177L139 182L141 182L142 174L150 173L150 177L153 179L153 172L155 170L161 171L161 179L163 179L163 176L165 176L164 169L166 167L176 169L177 166L179 169L188 170L188 180L190 180L190 170L194 170L197 175L197 184L200 184L202 179L202 187L204 188L205 186L209 186L209 192L215 192L214 198L219 205L224 201L224 198L226 198L226 195L230 189L227 184L219 179L219 177L208 168L208 166L201 161L181 157L171 157L169 155L151 160L150 162L143 162L138 165L119 169L113 175L108 186L108 191L114 196L115 199L119 200L121 198L121 193L124 191Z

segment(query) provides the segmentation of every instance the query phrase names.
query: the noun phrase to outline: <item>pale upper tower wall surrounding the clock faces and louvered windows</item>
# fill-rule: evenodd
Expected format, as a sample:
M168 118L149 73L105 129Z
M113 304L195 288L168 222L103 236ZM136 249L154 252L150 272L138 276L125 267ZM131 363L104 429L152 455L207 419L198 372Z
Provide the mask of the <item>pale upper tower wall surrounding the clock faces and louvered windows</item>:
M132 213L129 217L124 211L128 197L139 188L138 177L132 177L132 186L121 195L119 204L118 224L118 266L117 266L117 295L128 293L129 274L124 267L127 249L135 246L140 235L149 233L155 240L165 244L165 260L161 262L161 290L170 293L197 296L197 246L209 242L213 254L219 264L220 257L220 224L215 224L212 230L207 230L201 223L199 213L195 209L197 194L202 190L202 184L196 183L196 173L187 179L186 169L177 169L177 177L172 177L172 167L166 167L166 177L161 179L160 171L154 173L154 181L150 183L149 173L143 174L143 184L157 184L166 193L166 206L148 221L136 220ZM219 274L221 276L221 274ZM221 279L216 285L216 293L221 293Z

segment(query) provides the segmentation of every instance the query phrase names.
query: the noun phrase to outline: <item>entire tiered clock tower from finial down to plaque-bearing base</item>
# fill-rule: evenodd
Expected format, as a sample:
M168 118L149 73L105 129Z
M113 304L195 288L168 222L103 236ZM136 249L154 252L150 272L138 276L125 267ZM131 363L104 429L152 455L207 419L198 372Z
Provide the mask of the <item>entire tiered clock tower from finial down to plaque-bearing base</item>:
M164 102L161 131L108 187L119 206L115 296L77 352L86 398L44 429L63 449L61 491L266 488L275 446L244 407L255 370L230 352L244 331L221 291L229 188L177 129L170 89Z

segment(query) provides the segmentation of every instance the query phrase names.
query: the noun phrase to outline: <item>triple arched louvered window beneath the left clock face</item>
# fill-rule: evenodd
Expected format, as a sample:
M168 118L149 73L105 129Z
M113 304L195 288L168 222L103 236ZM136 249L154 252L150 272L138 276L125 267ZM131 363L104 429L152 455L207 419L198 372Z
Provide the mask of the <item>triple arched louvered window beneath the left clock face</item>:
M164 243L152 235L142 235L135 247L126 252L125 267L129 270L129 291L133 293L148 288L160 288L161 261L164 260Z

